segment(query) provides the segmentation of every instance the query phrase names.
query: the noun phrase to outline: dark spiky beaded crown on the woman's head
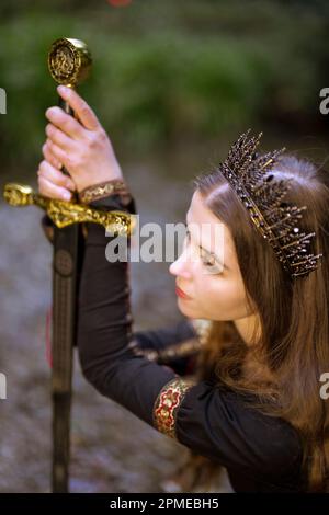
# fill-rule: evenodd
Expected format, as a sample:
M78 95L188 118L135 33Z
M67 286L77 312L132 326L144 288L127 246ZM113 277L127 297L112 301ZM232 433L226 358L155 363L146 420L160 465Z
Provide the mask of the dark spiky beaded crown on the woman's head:
M218 170L247 207L251 220L272 245L284 270L292 277L308 275L318 267L322 254L309 252L315 232L306 234L298 227L302 211L307 206L282 202L292 179L273 181L273 174L265 176L285 148L258 154L256 149L262 133L248 139L249 133L250 129L231 146Z

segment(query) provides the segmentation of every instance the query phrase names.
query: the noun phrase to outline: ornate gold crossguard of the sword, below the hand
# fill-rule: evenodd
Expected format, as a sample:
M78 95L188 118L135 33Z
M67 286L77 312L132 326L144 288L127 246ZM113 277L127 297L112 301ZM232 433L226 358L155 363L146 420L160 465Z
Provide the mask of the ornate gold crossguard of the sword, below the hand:
M7 183L3 188L5 202L14 207L35 205L44 209L48 217L59 229L72 224L91 221L102 225L109 232L118 236L128 236L136 226L136 216L124 211L105 211L93 209L75 202L48 198L35 193L25 184Z

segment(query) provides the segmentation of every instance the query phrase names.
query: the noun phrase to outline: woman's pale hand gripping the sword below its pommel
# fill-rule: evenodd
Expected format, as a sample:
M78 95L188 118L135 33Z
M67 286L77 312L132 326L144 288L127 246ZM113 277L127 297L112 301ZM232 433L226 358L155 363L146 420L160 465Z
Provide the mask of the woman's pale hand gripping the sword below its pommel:
M48 197L70 199L71 191L112 179L123 180L111 141L91 107L70 88L58 93L75 111L76 117L60 107L46 111L49 124L43 146L44 160L38 174L39 192ZM60 172L64 165L70 178ZM69 195L69 196L68 196Z

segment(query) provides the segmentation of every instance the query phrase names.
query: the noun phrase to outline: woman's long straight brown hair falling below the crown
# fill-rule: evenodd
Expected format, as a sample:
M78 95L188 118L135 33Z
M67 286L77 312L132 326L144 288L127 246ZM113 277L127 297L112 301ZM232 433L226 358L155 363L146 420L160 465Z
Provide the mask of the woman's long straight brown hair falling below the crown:
M316 232L310 251L324 254L320 266L292 278L220 171L197 176L193 185L206 207L230 230L247 298L261 325L247 347L232 321L213 322L198 366L204 376L214 371L236 391L254 394L254 408L288 421L303 442L308 491L328 492L329 400L320 397L320 376L329 371L329 175L290 154L281 156L271 173L293 179L284 201L307 206L300 224L303 231ZM251 352L271 380L241 373Z

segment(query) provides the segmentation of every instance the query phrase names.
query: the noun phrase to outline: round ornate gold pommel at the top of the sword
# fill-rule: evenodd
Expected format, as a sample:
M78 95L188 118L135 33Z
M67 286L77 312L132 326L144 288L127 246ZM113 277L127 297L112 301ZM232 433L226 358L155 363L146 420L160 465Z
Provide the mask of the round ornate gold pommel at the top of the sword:
M82 82L91 68L91 55L80 39L56 39L48 54L48 68L59 84L76 87Z

